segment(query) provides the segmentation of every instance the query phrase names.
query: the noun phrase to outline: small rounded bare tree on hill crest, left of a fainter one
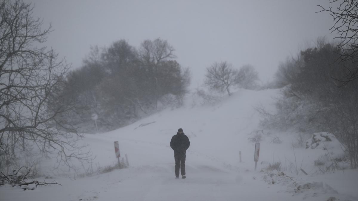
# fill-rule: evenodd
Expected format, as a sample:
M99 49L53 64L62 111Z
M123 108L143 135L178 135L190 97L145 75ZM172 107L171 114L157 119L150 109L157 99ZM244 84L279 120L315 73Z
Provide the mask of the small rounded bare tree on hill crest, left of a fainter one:
M232 64L215 62L206 69L204 85L220 92L226 90L231 95L229 88L234 83L236 75L237 70L232 67Z

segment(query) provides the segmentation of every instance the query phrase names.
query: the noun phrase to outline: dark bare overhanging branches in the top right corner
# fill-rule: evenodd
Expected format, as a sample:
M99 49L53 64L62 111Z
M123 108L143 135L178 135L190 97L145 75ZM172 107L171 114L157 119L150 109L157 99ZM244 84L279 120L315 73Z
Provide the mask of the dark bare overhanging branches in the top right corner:
M330 4L334 5L334 8L323 8L318 5L321 10L317 13L328 12L333 17L333 26L330 28L331 33L338 34L335 39L339 39L338 43L340 60L352 60L352 62L358 61L358 4L355 0L330 0ZM344 78L334 78L346 85L350 81L358 79L358 67L345 68Z

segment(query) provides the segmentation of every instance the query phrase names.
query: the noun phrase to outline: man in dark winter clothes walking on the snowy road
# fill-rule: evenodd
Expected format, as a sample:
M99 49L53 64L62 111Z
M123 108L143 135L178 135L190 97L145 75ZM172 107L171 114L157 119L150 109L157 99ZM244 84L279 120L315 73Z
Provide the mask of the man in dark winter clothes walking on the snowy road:
M185 153L190 146L189 138L183 133L183 129L179 128L176 135L171 138L170 147L174 150L175 160L175 178L179 178L179 167L182 178L185 179Z

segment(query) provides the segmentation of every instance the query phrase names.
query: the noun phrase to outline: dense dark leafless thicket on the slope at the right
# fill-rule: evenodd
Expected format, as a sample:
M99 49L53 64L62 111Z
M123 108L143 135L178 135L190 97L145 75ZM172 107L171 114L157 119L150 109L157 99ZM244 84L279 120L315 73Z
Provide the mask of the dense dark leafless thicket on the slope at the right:
M282 65L278 78L287 86L276 103L277 113L262 123L306 133L328 129L344 146L354 169L358 167L358 80L337 87L332 77L343 77L342 69L355 65L347 60L335 62L337 49L335 44L318 40L316 47Z

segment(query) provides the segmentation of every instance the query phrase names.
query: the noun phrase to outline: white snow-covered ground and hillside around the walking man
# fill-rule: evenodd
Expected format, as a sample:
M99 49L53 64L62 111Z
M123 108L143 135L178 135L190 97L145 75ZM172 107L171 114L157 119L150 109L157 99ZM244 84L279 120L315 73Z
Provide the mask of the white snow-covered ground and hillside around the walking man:
M322 145L305 149L305 144L292 146L297 144L295 134L260 131L255 107L274 111L277 95L279 90L238 90L214 106L195 107L192 103L197 97L187 97L184 107L167 109L108 133L87 134L84 142L97 155L93 168L117 163L113 141L119 142L121 156L128 156L130 167L83 178L53 176L46 181L62 186L38 186L33 191L3 186L0 200L358 200L358 171L323 174L314 165L326 153L339 156L338 144L327 143L328 150ZM178 128L190 139L187 178L179 180L169 147ZM255 171L255 143L248 139L256 134L262 140ZM283 174L282 170L260 172L276 162L281 162Z

